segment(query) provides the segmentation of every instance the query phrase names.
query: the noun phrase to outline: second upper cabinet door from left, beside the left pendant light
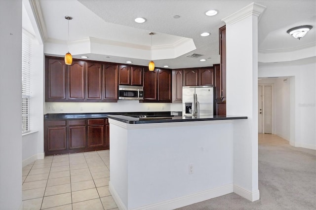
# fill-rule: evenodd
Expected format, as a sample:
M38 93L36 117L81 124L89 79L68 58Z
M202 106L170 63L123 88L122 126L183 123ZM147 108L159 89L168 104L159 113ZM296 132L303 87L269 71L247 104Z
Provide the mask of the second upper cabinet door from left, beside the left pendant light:
M84 100L84 62L76 61L68 70L68 99Z

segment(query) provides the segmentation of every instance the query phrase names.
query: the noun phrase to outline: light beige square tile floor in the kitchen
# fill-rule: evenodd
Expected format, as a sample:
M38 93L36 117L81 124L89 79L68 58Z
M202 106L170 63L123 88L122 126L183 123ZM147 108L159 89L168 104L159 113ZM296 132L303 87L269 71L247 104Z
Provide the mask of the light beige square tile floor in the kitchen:
M23 210L118 210L110 150L46 156L23 168Z

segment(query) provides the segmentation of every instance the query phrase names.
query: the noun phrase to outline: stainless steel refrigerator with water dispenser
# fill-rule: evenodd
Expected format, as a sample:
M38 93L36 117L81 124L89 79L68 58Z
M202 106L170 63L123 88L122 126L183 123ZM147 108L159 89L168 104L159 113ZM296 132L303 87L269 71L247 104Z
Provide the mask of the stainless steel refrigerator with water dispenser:
M182 87L182 116L207 117L213 116L213 86Z

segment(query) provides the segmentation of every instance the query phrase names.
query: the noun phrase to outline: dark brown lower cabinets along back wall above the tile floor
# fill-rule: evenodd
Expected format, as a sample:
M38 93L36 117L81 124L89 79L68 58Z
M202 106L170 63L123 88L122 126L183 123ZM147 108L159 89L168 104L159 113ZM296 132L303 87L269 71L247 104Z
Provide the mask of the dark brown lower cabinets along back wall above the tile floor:
M109 127L108 118L45 120L45 155L109 149Z

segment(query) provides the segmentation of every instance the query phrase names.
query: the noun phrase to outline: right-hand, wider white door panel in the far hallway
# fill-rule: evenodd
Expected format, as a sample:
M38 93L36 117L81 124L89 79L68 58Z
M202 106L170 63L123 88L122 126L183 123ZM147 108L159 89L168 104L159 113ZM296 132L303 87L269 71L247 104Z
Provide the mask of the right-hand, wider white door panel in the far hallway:
M264 133L272 134L272 86L264 86Z

